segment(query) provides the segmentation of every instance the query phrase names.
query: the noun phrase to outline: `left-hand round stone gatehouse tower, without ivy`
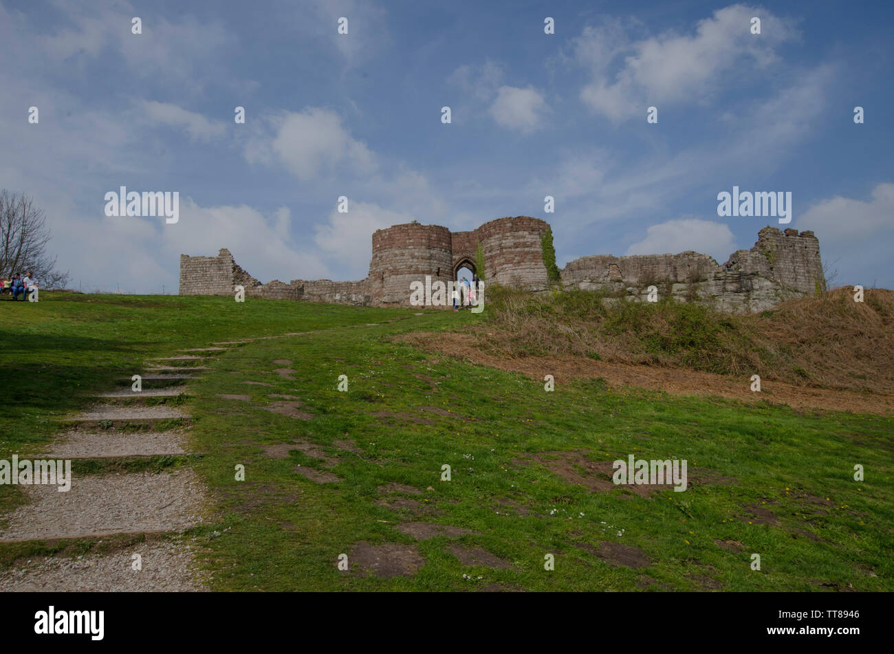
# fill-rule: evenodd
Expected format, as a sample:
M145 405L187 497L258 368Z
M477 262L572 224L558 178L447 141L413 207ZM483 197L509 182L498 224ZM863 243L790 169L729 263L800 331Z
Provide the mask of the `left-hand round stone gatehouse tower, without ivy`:
M451 281L451 231L439 225L407 222L373 233L369 290L373 306L410 306L413 281Z

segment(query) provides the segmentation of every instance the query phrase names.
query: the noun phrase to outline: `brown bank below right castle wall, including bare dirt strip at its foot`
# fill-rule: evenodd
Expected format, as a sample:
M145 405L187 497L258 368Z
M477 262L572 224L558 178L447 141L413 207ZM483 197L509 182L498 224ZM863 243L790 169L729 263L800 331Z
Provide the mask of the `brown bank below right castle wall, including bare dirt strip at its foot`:
M602 376L612 385L795 407L894 409L894 291L869 289L860 303L850 289L835 289L747 315L670 299L618 302L588 291L491 289L489 300L483 321L437 339L406 338L540 377ZM763 394L751 392L754 374Z

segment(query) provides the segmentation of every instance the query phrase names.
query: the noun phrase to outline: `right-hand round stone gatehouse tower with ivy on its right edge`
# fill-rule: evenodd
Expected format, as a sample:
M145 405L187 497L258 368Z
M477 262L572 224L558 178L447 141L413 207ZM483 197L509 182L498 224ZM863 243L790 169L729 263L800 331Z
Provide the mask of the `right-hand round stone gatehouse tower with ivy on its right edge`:
M485 256L486 281L529 290L547 288L540 239L548 222L520 215L485 222L476 232Z

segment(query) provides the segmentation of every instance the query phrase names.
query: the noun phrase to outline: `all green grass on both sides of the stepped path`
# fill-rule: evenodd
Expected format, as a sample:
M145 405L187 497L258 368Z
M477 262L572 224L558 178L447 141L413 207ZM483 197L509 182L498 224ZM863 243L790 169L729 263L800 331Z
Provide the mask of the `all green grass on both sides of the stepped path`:
M203 456L120 464L122 470L191 465L204 476L213 516L190 536L205 546L200 560L215 572L215 590L457 591L491 584L531 591L703 590L714 584L727 591L894 587L890 417L803 414L769 405L609 390L602 380L557 384L554 392L545 392L542 381L435 357L392 340L404 331L437 331L481 320L486 312L416 316L291 302L255 301L234 308L232 300L221 298L50 300L50 295L42 294L38 306L15 306L38 309L27 323L11 325L11 313L0 314L4 342L25 329L31 343L21 346L14 361L4 357L0 369L12 370L29 388L43 383L32 398L38 407L17 398L2 418L3 451L10 445L23 451L39 448L50 429L32 414L82 407L88 387L105 390L115 377L129 376L145 356L166 356L175 348L204 347L213 340L329 330L234 348L190 381L195 396L184 405L192 415L190 451ZM365 324L404 316L408 319L396 323ZM143 327L137 330L136 323ZM90 348L66 345L84 340ZM274 359L293 362L294 380L271 372L282 367ZM97 371L101 380L79 366ZM63 397L71 383L66 373L76 369L83 387ZM349 378L348 392L336 390L341 374ZM221 393L247 394L251 401L218 398ZM301 410L313 418L264 410L279 401L270 394L299 397ZM449 413L421 413L418 407ZM265 446L295 439L316 444L337 465L323 468L319 459L297 449L285 458L266 456ZM341 439L351 440L358 452L336 447ZM682 493L661 490L648 498L623 487L593 492L548 469L542 453L557 450L573 450L595 462L628 454L685 458L690 480L698 476L696 469L703 476L710 471L730 479L692 483ZM341 481L311 482L294 471L299 464L325 469ZM450 482L440 481L445 464L451 465ZM853 480L856 464L864 465L864 482ZM235 480L236 465L245 466L244 482ZM103 472L108 466L88 462L83 470ZM419 517L406 508L378 506L383 496L377 487L389 482L421 490L407 497L440 513ZM3 493L0 487L0 500ZM779 524L759 524L746 505L771 510ZM412 520L477 533L417 542L395 529ZM715 540L738 541L742 549L730 552ZM391 579L339 572L338 555L350 554L360 541L416 544L426 564L411 577ZM651 565L637 570L611 566L578 547L598 548L601 541L637 547ZM451 542L486 549L512 567L462 566L448 549ZM32 553L37 550L2 546L0 565ZM546 553L556 559L552 572L544 570ZM760 571L751 569L752 553L761 556Z

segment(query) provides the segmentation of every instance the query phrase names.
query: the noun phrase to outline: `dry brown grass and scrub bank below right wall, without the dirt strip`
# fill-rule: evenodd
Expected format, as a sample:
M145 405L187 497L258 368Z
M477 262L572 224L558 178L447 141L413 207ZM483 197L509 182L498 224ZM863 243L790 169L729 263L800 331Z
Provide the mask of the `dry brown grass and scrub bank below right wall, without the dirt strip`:
M612 301L572 291L535 297L499 289L487 321L464 340L504 360L578 356L628 365L751 375L796 386L894 390L894 291L850 287L761 314L722 314L667 300ZM468 341L471 339L471 342Z

